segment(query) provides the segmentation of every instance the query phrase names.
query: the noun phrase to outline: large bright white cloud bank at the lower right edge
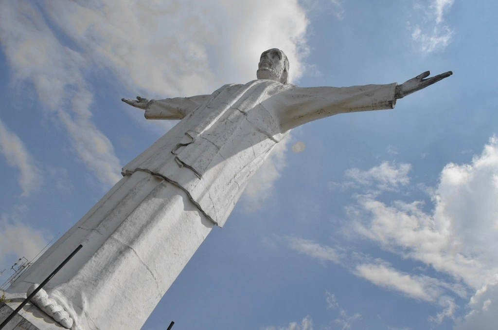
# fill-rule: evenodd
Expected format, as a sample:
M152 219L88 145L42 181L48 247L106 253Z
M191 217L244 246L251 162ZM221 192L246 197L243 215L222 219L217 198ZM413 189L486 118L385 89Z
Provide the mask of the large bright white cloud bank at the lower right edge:
M491 315L488 312L493 310L496 296L485 293L496 286L498 274L498 139L492 137L482 154L474 156L470 164L446 165L438 185L427 191L434 202L430 212L423 210L421 201L394 201L387 206L374 194L357 196L358 204L349 208L356 232L393 253L421 261L452 278L452 283L431 285L460 297L466 297L467 290L474 292L466 320L474 320L478 313ZM437 304L444 306L444 310L431 318L436 323L452 317L456 309L453 299L438 290L435 295L427 296L423 286L427 283L425 277L391 274L386 281L389 272L374 278L372 267L360 273L381 286L395 286L404 292L411 288L415 290L411 295L420 299L437 298ZM418 285L408 284L412 280Z

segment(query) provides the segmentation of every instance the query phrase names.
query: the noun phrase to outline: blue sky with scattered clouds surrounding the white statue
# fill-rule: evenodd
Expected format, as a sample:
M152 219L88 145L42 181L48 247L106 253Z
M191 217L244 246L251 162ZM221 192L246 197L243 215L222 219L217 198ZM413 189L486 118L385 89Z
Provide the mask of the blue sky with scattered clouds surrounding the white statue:
M454 75L394 110L293 130L143 329L493 329L497 6L2 1L0 271L69 229L175 124L122 97L246 83L278 47L300 86Z

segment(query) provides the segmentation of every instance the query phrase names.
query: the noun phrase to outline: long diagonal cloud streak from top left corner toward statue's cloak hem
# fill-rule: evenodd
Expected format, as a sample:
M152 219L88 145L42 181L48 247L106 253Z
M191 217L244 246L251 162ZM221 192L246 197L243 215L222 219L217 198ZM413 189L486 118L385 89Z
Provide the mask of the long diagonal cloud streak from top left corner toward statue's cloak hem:
M119 160L91 120L93 95L84 76L89 60L64 46L32 3L1 2L0 12L0 38L13 76L34 85L48 113L64 123L85 165L101 182L114 184L120 178Z

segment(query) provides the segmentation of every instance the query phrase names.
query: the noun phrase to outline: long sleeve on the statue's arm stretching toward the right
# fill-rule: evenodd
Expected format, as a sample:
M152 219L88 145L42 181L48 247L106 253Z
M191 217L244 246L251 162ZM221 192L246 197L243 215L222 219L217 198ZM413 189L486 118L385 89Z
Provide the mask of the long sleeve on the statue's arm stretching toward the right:
M325 117L358 111L394 109L397 83L353 87L292 87L264 101L281 132Z

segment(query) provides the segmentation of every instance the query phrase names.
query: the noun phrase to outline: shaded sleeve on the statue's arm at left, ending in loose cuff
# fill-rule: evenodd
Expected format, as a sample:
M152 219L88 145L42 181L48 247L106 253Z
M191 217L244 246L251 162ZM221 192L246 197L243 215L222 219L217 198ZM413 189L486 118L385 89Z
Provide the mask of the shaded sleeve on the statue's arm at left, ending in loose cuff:
M211 95L175 97L173 99L151 100L145 109L146 119L182 119L203 104Z

